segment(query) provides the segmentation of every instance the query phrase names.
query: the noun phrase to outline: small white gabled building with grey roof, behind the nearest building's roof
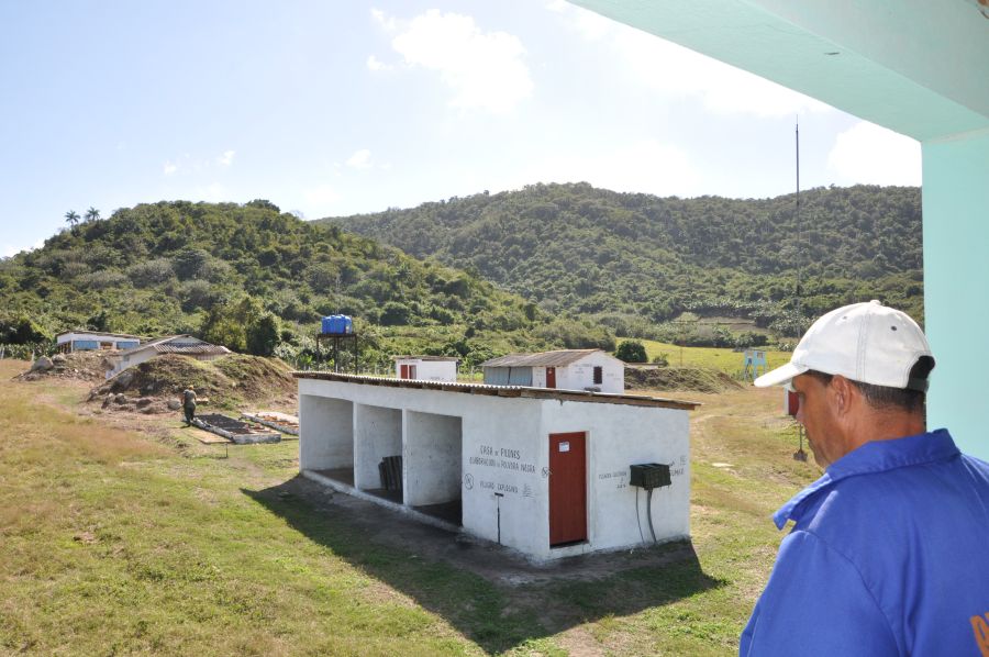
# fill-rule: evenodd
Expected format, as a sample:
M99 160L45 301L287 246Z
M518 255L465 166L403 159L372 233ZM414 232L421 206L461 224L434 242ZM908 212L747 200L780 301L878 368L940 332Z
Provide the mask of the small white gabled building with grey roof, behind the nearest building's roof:
M489 386L624 392L625 364L601 349L509 354L481 363Z

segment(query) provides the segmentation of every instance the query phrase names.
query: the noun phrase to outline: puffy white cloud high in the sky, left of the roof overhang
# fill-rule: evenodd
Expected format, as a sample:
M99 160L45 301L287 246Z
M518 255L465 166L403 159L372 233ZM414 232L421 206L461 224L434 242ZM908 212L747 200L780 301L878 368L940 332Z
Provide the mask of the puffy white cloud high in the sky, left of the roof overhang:
M438 73L453 91L452 107L501 113L532 94L522 42L507 32L481 32L471 16L431 9L412 19L391 47L407 66Z

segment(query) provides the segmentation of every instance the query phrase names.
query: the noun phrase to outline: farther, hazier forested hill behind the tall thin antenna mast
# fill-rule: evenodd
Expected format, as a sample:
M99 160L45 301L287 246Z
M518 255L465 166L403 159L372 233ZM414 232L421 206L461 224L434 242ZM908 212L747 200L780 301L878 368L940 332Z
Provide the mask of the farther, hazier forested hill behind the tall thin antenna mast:
M647 336L691 311L792 335L798 308L814 316L877 298L923 316L920 197L904 187L812 189L800 194L798 225L794 194L679 199L533 185L322 223L623 334Z

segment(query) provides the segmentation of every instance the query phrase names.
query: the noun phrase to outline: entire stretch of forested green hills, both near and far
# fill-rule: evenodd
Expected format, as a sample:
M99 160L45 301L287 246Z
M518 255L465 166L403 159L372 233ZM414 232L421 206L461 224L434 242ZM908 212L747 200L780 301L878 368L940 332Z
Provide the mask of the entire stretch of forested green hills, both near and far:
M365 364L416 352L473 365L613 349L614 335L775 344L873 298L923 316L919 189L800 200L799 227L792 194L660 199L586 183L320 222L263 200L142 204L0 260L0 344L68 328L191 333L299 364L319 318L345 313Z

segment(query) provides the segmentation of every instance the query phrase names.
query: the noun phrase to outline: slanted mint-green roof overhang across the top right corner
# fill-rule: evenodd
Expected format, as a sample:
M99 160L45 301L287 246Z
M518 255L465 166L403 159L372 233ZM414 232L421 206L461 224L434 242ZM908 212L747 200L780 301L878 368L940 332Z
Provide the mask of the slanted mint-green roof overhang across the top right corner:
M978 0L573 1L920 141L989 130Z

